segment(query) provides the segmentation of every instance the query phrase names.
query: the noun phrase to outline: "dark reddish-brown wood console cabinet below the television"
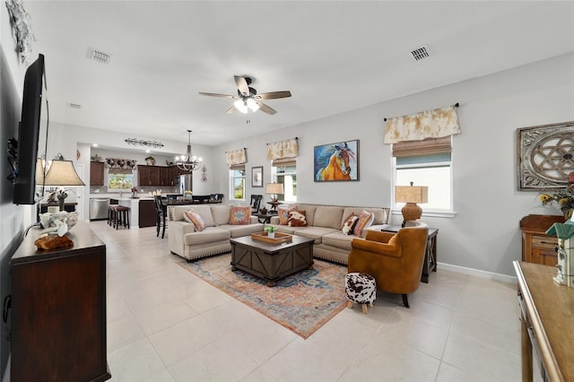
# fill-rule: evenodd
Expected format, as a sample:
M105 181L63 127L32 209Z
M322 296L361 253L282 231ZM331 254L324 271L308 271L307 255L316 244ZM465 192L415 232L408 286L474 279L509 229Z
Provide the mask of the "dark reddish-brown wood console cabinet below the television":
M78 221L74 247L39 252L39 231L10 260L11 380L107 380L106 246Z

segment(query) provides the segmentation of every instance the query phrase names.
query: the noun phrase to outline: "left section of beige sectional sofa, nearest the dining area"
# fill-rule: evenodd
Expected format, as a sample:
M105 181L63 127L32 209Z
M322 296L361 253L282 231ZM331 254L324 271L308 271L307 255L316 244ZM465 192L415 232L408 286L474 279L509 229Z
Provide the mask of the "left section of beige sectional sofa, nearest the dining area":
M193 209L205 222L201 232L187 222L184 212ZM195 260L230 252L230 238L239 238L263 230L257 216L251 216L248 225L231 225L230 204L170 205L168 207L168 244L173 254Z

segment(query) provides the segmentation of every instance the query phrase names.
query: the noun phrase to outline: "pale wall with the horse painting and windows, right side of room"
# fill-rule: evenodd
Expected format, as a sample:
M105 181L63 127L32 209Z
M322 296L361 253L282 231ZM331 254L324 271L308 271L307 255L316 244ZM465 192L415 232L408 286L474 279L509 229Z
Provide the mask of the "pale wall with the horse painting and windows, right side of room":
M518 221L535 212L535 192L517 191L517 128L574 120L574 54L558 56L484 77L458 82L401 99L291 126L215 148L222 152L248 148L246 168L265 166L265 143L298 136L298 201L301 203L390 206L390 147L383 144L383 118L441 108L459 102L463 134L454 138L454 218L424 217L439 229L439 262L492 273L514 274L511 262L521 258ZM384 86L384 84L381 84ZM316 183L313 146L360 140L360 181ZM218 176L227 187L227 172ZM247 195L261 194L261 188ZM265 197L264 197L265 201ZM424 209L424 206L422 206ZM400 215L393 216L399 223Z

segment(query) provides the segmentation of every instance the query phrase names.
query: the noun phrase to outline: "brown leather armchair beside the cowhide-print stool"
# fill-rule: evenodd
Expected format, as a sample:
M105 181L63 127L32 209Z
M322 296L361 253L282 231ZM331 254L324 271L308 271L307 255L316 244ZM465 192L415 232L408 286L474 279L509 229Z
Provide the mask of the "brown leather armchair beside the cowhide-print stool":
M364 240L352 239L349 273L374 276L378 290L402 294L404 307L409 308L407 294L421 283L428 233L426 227L396 233L370 230Z

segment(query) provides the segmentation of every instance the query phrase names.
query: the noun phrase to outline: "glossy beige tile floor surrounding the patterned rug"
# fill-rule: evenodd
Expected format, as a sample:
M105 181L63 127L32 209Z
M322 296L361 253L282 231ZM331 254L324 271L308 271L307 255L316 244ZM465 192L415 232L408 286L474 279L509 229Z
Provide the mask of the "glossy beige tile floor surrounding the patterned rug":
M92 229L107 244L112 381L519 381L516 285L440 270L378 292L309 339L178 265L155 228Z

